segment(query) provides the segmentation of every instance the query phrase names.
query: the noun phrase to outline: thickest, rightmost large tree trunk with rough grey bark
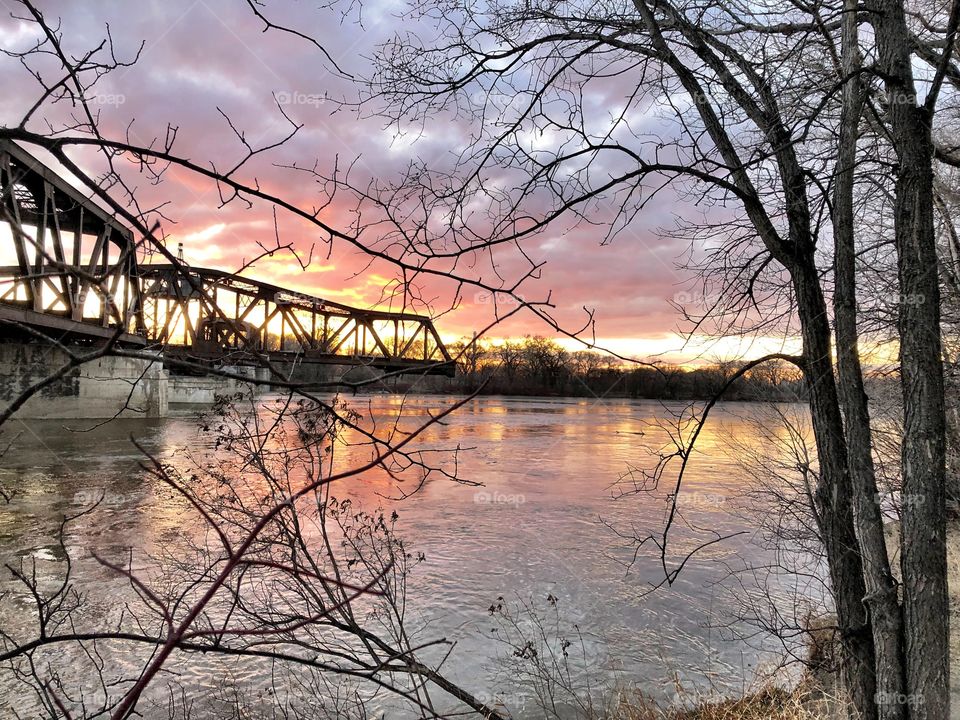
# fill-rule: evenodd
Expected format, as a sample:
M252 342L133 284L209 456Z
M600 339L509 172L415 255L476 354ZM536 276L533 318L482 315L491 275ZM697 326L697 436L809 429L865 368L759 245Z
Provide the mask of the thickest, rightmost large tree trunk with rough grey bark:
M932 108L918 105L903 4L871 8L899 170L894 232L903 387L901 569L911 717L947 720L949 601L940 285L933 225Z

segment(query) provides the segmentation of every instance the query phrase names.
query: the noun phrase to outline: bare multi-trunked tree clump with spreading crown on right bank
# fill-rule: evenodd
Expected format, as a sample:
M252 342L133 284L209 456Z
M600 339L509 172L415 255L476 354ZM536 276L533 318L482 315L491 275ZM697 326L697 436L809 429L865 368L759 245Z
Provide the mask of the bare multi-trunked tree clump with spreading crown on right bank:
M426 256L522 251L547 229L576 223L603 225L608 240L619 239L667 186L722 208L710 224L681 220L695 245L710 240L697 263L708 304L693 330L802 339L799 356L767 359L793 362L806 379L819 531L846 684L864 718L949 715L932 222L932 166L942 151L932 132L953 94L941 89L956 76L957 15L956 3L424 2L411 18L435 36L388 43L370 78L368 107L400 127L440 112L476 116L474 141L452 170L418 168L402 192L366 193L384 206L415 194L427 212L444 208L456 219L418 235L415 249ZM430 25L434 17L449 21ZM859 32L865 25L870 32ZM932 78L922 99L917 47ZM591 93L617 98L602 120L587 107ZM658 111L663 123L638 126ZM545 140L531 144L531 136ZM860 260L875 252L858 232L861 218L864 228L885 229L879 245L892 250L896 281L890 265ZM531 269L540 262L529 258ZM902 606L873 502L858 357L867 329L858 324L858 282L878 270L897 297L896 327L869 329L899 346L903 492L927 500L903 518ZM668 456L680 468L673 502L711 405ZM652 480L668 467L658 463ZM664 555L666 537L655 544ZM665 566L667 581L675 570Z

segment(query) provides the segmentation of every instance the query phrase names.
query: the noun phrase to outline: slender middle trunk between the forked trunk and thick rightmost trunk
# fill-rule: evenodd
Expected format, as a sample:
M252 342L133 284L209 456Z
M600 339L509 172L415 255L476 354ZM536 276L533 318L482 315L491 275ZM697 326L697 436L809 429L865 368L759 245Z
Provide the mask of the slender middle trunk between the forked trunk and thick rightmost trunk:
M857 0L845 0L842 28L842 67L845 79L840 139L833 193L834 294L837 338L837 386L843 408L847 457L853 486L853 515L863 561L864 602L870 613L876 654L877 717L907 716L903 661L903 622L897 587L890 571L877 502L870 412L858 353L856 246L853 214L857 135L863 110L863 83L857 46Z

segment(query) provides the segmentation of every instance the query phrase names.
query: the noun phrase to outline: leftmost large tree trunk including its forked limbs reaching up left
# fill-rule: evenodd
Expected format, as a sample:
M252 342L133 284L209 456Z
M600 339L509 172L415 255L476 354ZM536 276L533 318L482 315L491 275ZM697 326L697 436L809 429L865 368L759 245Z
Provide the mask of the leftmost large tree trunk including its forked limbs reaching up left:
M816 241L812 236L807 201L808 178L792 144L775 98L762 78L751 75L753 92L747 91L704 40L702 33L687 23L682 14L667 4L660 10L669 15L693 52L709 66L737 99L744 112L765 133L783 185L784 215L788 237L782 238L770 220L767 208L757 194L736 146L720 117L706 100L695 73L670 49L648 0L634 0L640 17L651 36L651 44L660 59L676 73L684 89L693 98L706 131L730 168L731 180L744 201L747 216L767 249L787 270L797 298L797 313L803 336L804 376L810 392L810 410L820 464L820 484L816 503L820 532L827 555L840 642L843 648L843 674L854 712L862 720L875 720L876 663L870 618L864 605L866 589L860 548L854 529L852 486L843 431L843 416L837 397L831 353L831 328L816 266ZM742 66L741 66L742 67ZM759 100L754 97L759 96Z

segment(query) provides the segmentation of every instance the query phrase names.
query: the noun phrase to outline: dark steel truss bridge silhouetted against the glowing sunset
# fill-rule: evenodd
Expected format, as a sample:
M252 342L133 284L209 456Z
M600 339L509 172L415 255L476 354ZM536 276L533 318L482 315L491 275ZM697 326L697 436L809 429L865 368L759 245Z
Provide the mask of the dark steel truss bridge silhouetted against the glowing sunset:
M266 356L454 372L428 317L355 308L221 270L139 263L128 227L3 140L0 213L0 337L32 328L102 342L119 332L122 345L210 365Z

